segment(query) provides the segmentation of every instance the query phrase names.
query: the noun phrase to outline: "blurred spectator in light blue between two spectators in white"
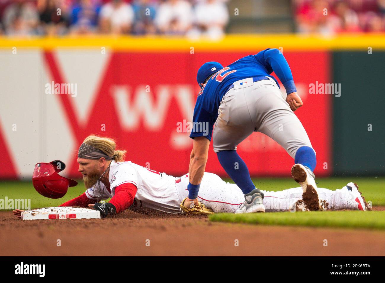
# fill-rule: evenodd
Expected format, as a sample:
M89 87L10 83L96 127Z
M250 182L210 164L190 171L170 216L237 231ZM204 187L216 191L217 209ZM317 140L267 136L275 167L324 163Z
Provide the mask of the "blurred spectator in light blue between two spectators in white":
M136 0L132 2L135 14L133 27L134 34L153 34L156 33L154 19L156 16L156 5L149 0Z

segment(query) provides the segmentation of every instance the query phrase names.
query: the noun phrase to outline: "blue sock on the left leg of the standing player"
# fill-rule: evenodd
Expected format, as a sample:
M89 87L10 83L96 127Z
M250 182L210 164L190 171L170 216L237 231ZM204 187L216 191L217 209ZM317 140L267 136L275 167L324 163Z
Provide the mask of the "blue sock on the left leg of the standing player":
M219 163L244 194L250 193L255 186L250 178L249 169L235 150L217 152Z

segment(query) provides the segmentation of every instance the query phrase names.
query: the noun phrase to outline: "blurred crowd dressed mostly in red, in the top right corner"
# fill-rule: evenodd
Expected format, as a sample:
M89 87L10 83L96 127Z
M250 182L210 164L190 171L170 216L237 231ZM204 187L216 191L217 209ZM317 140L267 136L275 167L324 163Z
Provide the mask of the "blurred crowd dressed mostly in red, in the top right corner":
M300 33L385 32L385 0L294 0L294 3Z

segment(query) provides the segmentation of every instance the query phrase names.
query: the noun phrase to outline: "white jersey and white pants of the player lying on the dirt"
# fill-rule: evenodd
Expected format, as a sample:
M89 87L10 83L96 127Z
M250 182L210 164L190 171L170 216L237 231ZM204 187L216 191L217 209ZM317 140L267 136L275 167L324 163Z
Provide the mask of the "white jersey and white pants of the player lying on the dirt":
M115 188L132 183L137 187L132 210L156 209L167 213L183 213L179 204L187 197L188 174L182 177L169 176L146 167L127 162L112 161L109 172L110 190L103 183L85 192L90 199L108 199L115 195ZM268 211L288 211L298 199L302 189L291 188L283 191L263 191L263 204ZM329 209L357 209L357 203L348 203L350 192L343 189L331 191L318 188L321 199L329 203ZM198 200L214 212L235 213L244 201L244 195L236 184L224 182L219 176L205 172L199 189Z

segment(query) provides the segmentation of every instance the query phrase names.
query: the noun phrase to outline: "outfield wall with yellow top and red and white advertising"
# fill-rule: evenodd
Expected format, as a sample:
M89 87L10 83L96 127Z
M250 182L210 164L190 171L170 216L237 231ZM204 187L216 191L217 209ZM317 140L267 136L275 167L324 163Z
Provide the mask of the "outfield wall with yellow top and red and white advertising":
M333 138L332 104L347 94L343 92L338 98L309 94L309 84L336 80L331 66L338 69L342 64L332 60L333 51L341 49L341 42L346 40L293 36L233 36L219 43L162 38L2 39L0 178L28 179L35 163L55 159L67 164L67 176L79 178L77 148L91 133L115 137L117 144L128 150L126 160L182 175L188 170L192 140L188 132L180 130L192 119L199 66L212 60L228 65L266 47L281 47L291 66L305 105L296 115L317 152L315 173L328 176L333 170L345 172L354 166L343 167L341 162L336 163L338 168L333 166L332 149L341 148L340 141L346 138ZM362 40L372 40L377 48L384 48L381 42L385 42L378 37L358 43L350 40L358 53L367 53L367 47L358 44ZM219 50L220 46L226 48ZM346 52L350 51L342 53ZM52 82L74 84L76 92L47 93ZM339 122L346 126L349 119ZM349 156L350 149L342 148L344 156ZM253 176L290 175L293 160L263 134L254 133L239 145L238 152ZM206 171L225 175L212 148Z

